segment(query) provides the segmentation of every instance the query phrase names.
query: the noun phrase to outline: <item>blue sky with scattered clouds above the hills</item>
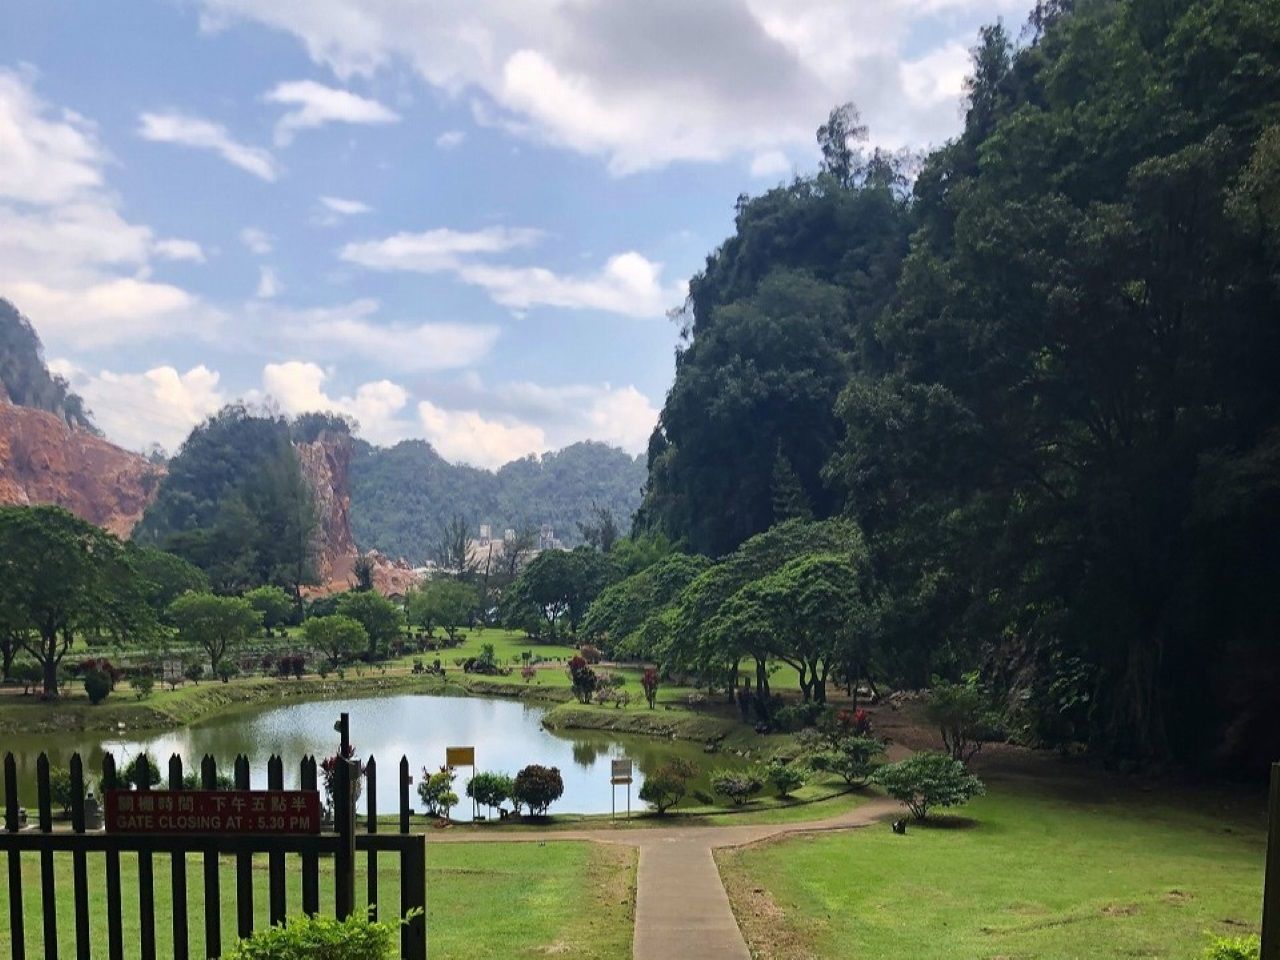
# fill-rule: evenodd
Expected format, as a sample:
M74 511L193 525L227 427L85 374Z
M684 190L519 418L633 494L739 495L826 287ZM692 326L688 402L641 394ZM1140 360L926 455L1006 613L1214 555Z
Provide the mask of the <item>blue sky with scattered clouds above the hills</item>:
M494 467L645 448L741 193L961 123L1025 0L41 0L0 13L0 296L108 438L335 410Z

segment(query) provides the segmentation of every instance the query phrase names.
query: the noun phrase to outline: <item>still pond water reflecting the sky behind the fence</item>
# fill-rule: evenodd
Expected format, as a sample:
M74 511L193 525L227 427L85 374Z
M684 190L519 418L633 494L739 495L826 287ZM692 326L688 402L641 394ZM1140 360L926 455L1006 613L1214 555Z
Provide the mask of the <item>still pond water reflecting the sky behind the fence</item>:
M378 758L378 808L380 814L398 806L398 767L408 756L415 788L411 801L421 809L416 785L422 768L436 769L444 763L447 746L475 746L479 771L515 774L521 767L540 763L558 767L564 778L564 796L553 813L608 813L611 806L609 762L626 756L635 763L631 785L632 810L644 809L639 800L646 772L672 756L692 759L699 765L733 765L728 756L705 756L700 745L616 735L600 731L548 731L541 724L545 708L517 700L475 696L402 694L349 700L291 703L282 707L239 709L182 730L119 736L74 732L41 736L6 736L0 753L12 750L18 760L19 792L23 804L35 806L36 758L49 754L54 769L67 769L70 755L79 751L86 774L97 781L102 755L110 751L118 765L146 750L168 769L169 755L177 753L184 769L198 768L200 758L212 754L219 771L230 773L237 754L247 754L251 785L266 786L266 760L271 754L284 759L287 787L298 785L298 762L311 754L316 759L337 753L334 722L339 712L351 714L351 741L356 753ZM458 771L456 792L462 805L454 815L470 813L463 795L470 772ZM707 788L707 771L695 788ZM617 788L618 810L626 809L626 787ZM364 812L364 801L360 806ZM484 810L481 809L481 813Z

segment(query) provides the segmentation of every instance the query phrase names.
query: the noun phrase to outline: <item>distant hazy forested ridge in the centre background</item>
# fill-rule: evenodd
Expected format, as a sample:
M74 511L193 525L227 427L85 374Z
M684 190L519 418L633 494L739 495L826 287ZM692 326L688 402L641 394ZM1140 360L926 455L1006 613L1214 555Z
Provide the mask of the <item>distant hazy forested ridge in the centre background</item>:
M579 540L579 521L595 504L625 530L640 504L643 458L603 443L575 443L525 457L497 472L449 463L424 440L394 447L357 442L351 462L351 527L361 549L421 562L445 524L465 517L472 535L489 524L503 529L550 524L566 543Z

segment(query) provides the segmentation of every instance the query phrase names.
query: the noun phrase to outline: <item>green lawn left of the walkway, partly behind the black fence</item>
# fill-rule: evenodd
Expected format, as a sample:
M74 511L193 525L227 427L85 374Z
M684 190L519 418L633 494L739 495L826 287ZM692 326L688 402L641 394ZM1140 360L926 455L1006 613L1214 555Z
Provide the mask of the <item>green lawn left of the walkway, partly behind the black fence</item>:
M429 952L449 960L503 960L556 955L582 960L626 960L631 956L635 911L635 850L586 842L436 844L428 847ZM40 859L23 861L27 956L42 955ZM74 956L70 856L59 855L58 927L63 956ZM399 904L396 859L380 865L383 918ZM332 863L321 861L321 906L333 906ZM8 874L4 874L8 876ZM233 860L221 861L223 946L236 942ZM172 956L169 858L155 860L156 950ZM255 860L255 906L259 925L268 923L266 860ZM301 909L296 861L288 865L289 909ZM5 881L8 884L8 881ZM124 945L137 956L137 859L122 856ZM101 855L90 856L90 914L95 955L105 948L106 884ZM357 861L357 897L365 895L364 856ZM188 904L192 955L204 955L202 874L198 858L188 858ZM361 901L362 902L362 901ZM0 897L0 943L9 941L9 901ZM132 952L131 952L132 950ZM0 957L9 952L0 948Z

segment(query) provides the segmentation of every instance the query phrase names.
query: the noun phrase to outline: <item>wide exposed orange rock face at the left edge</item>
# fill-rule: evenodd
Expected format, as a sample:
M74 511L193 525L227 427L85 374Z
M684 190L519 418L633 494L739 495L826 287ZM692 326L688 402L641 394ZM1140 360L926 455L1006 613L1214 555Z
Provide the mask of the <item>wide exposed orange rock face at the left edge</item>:
M0 503L55 503L128 536L164 472L52 413L0 397Z

